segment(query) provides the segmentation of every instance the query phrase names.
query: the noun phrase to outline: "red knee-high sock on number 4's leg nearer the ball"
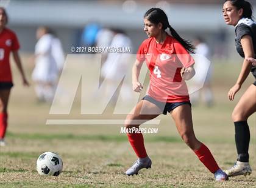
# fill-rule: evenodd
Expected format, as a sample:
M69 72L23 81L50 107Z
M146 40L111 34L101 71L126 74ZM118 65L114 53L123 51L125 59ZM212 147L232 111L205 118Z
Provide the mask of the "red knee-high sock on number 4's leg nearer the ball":
M127 133L130 145L138 158L145 158L147 155L142 133Z

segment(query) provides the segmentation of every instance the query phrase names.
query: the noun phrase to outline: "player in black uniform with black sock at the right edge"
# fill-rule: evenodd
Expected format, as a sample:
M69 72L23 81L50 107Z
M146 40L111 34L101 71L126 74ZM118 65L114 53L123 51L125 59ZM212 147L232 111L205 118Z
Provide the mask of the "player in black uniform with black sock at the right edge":
M244 58L240 75L228 93L230 101L233 101L250 72L256 79L256 67L248 61L248 58L255 58L256 22L252 20L252 5L244 0L226 0L222 12L226 24L235 26L236 50ZM256 112L256 82L241 96L232 113L238 158L234 166L225 170L228 176L249 175L252 172L249 166L250 130L247 119L254 112Z

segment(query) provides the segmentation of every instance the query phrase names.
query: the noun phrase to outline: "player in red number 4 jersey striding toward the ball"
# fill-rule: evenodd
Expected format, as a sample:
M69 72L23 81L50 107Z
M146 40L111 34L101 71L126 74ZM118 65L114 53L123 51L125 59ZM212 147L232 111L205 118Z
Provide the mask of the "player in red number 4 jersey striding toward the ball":
M172 36L166 33L166 29L169 29L168 32ZM171 113L183 141L196 153L205 167L215 174L217 181L227 180L226 173L219 168L210 150L194 135L190 98L183 80L192 78L195 73L194 60L188 53L193 53L193 45L180 38L160 8L151 8L146 12L144 32L149 38L144 40L138 49L137 60L133 65L132 82L133 90L140 92L143 86L138 77L143 61L146 60L151 76L149 91L127 115L126 128L138 128L140 124L161 113ZM141 133L127 133L127 136L138 160L126 174L134 175L143 168L150 168L151 159L146 153Z

